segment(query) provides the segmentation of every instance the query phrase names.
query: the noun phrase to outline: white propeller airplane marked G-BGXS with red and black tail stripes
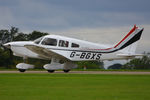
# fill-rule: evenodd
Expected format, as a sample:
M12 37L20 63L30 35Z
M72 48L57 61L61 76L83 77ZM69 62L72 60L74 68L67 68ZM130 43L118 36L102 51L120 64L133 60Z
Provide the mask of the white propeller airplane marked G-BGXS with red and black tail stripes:
M142 54L136 54L136 44L140 40L144 28L136 25L125 37L115 45L103 45L84 40L59 35L46 35L34 41L9 42L4 44L11 49L15 56L22 57L23 63L16 65L20 72L34 68L34 65L25 63L27 58L50 60L43 66L48 72L62 69L69 72L77 68L76 61L104 61L132 59Z

